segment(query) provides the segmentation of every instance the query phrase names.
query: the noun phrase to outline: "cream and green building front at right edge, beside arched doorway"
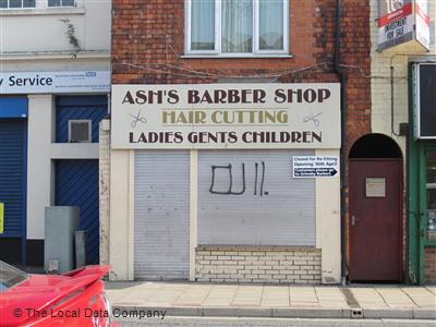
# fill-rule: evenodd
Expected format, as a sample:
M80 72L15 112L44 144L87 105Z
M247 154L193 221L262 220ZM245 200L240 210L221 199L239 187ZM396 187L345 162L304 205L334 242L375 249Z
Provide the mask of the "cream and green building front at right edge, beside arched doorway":
M410 1L404 1L404 4ZM378 1L371 1L371 132L390 137L401 152L401 178L403 179L401 256L404 281L422 284L436 280L435 241L432 235L434 232L431 231L428 222L429 214L435 209L434 201L432 203L434 197L432 192L435 191L432 191L433 182L431 180L434 140L432 137L424 140L416 135L414 116L420 111L420 106L414 104L419 90L415 86L417 80L412 74L412 70L423 63L426 63L423 69L433 68L434 70L436 3L435 1L421 1L417 4L428 5L428 8L424 8L428 17L427 45L421 45L414 36L412 40L379 51L377 47L379 43ZM408 19L410 17L409 15ZM426 120L432 121L431 118Z

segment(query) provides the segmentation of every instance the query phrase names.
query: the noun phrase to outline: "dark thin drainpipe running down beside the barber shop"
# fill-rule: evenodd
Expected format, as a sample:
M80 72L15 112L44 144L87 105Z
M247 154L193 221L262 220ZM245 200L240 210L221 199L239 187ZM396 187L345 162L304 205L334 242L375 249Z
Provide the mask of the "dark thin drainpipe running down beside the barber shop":
M341 23L341 0L336 0L336 31L335 31L335 72L338 74L340 83L340 110L341 110L341 149L340 149L340 216L341 216L341 283L342 286L347 282L347 249L346 249L346 217L347 217L347 204L346 204L346 186L347 186L347 148L346 148L346 89L344 81L346 74L340 66L340 23Z

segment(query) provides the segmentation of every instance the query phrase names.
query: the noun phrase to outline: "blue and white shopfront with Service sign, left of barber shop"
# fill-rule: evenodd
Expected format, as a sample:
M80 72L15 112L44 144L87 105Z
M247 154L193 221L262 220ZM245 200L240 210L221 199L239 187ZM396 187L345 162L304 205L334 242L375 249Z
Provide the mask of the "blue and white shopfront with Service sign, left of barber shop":
M53 82L40 88L1 87L0 259L43 266L45 208L78 206L86 263L98 264L98 131L108 114L109 72L0 77L8 81L12 74L49 75Z

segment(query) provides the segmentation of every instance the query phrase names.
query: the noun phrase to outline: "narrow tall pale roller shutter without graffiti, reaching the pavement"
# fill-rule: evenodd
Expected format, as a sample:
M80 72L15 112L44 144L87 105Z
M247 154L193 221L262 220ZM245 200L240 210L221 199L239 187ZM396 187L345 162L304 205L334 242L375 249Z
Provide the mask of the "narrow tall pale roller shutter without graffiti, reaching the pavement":
M135 152L135 279L189 278L190 155Z

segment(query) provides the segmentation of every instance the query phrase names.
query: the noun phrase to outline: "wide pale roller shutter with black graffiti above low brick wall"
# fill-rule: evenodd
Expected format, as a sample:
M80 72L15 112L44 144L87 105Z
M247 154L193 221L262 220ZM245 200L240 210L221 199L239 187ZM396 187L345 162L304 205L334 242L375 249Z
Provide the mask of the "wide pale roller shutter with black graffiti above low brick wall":
M315 179L293 179L312 150L198 153L198 244L315 245Z

